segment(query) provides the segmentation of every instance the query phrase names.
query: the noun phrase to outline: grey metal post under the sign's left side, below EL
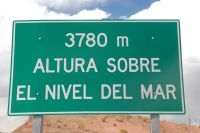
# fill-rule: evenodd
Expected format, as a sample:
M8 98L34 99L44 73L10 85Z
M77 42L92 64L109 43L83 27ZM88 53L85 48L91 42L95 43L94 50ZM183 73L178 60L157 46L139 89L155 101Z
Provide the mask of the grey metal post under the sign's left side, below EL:
M33 116L33 133L43 132L43 116Z

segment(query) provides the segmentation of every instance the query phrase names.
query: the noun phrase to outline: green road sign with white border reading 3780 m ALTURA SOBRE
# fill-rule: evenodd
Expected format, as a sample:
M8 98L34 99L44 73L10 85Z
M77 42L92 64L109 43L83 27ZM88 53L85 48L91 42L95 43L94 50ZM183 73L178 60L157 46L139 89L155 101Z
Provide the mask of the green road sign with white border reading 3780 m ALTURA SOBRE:
M14 21L8 114L185 113L179 28Z

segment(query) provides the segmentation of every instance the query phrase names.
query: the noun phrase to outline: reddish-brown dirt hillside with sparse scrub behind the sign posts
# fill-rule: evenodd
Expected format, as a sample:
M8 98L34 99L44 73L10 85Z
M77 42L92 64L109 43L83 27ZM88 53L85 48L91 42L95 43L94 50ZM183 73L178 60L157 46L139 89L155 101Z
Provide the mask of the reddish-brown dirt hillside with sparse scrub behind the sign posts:
M31 133L33 118L13 131ZM161 121L161 133L200 133L200 127ZM43 133L150 133L149 118L129 115L45 116Z

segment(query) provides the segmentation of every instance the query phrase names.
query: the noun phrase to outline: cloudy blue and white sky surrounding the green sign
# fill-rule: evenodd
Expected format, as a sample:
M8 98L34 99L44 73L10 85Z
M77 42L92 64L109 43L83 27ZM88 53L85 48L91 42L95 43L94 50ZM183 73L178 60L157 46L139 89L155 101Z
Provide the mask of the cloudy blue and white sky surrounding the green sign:
M186 115L165 115L177 122L200 119L200 19L198 0L2 0L0 1L0 131L13 130L26 117L7 116L13 20L33 19L179 19ZM7 124L7 123L11 124Z

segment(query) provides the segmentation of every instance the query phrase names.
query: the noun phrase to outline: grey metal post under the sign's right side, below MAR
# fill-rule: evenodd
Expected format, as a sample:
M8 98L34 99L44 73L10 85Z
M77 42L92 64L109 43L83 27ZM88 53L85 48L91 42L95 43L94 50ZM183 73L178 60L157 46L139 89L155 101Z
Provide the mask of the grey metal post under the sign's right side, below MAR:
M160 133L159 114L151 114L151 133Z

